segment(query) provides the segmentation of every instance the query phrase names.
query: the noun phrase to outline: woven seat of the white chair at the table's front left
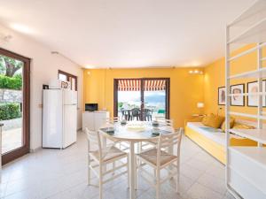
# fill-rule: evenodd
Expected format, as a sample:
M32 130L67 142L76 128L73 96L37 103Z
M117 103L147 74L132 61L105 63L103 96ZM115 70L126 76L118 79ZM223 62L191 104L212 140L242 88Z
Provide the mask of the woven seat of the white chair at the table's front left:
M102 157L104 158L104 162L108 162L109 160L112 160L113 158L118 157L126 157L127 153L123 152L121 149L117 149L116 147L109 147L106 149L102 149ZM93 151L90 153L91 156L95 157L99 161L99 154L98 151Z

